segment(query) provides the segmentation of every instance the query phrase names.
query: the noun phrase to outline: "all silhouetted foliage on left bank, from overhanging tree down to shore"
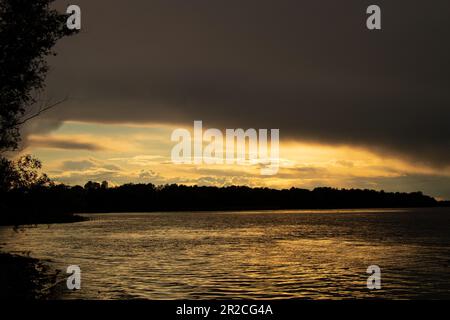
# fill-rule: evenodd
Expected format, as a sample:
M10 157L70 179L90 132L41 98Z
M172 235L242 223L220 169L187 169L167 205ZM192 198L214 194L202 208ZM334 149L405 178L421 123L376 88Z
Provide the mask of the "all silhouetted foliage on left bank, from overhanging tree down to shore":
M52 8L54 0L0 0L0 223L45 222L61 219L47 216L52 204L43 208L37 190L52 183L40 172L41 162L32 156L18 159L21 127L63 100L45 99L47 56L58 40L75 34L66 28L68 15ZM11 191L14 190L14 191ZM47 191L50 191L48 189ZM26 209L26 210L25 210ZM22 213L21 213L22 212ZM39 217L39 219L38 219ZM64 219L74 219L66 216Z

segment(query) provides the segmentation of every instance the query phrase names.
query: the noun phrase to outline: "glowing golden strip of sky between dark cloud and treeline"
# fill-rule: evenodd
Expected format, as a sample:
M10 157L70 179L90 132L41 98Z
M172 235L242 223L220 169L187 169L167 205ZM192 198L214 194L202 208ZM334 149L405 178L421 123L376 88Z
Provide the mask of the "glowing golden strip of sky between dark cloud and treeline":
M43 160L44 169L55 181L81 185L87 180L107 180L111 185L152 182L389 189L380 181L408 175L450 176L449 170L437 171L363 148L284 141L282 136L280 169L273 176L261 176L258 165L251 163L177 165L170 159L174 129L163 124L65 122L50 134L29 136L22 153L33 153Z

